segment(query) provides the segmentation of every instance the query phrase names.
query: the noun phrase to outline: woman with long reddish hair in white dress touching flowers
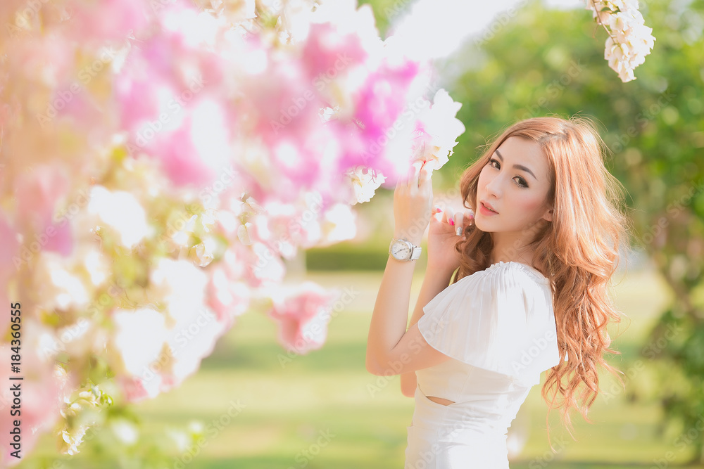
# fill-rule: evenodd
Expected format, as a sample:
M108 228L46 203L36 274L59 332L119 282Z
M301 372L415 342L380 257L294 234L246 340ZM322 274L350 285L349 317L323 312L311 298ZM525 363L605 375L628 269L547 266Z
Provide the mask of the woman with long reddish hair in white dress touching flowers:
M586 418L596 399L598 366L613 371L603 356L619 319L607 290L627 226L620 186L579 118L503 132L462 174L469 210L453 217L433 216L430 176L415 165L394 191L367 370L401 374L415 397L407 469L508 468L508 426L542 371L543 398L568 427L570 409ZM428 223L427 275L406 330Z

